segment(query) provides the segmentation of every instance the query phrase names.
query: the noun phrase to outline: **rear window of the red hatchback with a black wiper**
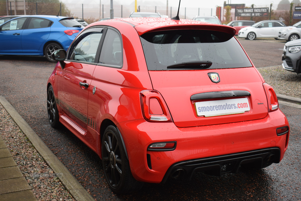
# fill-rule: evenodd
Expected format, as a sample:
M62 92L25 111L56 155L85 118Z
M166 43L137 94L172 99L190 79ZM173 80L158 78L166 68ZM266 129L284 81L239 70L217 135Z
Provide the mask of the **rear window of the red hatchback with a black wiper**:
M196 69L198 64L201 69L252 66L236 39L224 32L162 31L143 34L140 40L148 70Z

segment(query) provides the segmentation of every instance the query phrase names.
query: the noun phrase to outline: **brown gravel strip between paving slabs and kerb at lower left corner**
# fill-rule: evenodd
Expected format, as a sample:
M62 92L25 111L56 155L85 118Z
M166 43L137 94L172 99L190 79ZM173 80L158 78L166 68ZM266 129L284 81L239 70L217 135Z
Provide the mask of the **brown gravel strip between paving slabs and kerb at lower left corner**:
M1 104L0 133L38 200L75 200Z

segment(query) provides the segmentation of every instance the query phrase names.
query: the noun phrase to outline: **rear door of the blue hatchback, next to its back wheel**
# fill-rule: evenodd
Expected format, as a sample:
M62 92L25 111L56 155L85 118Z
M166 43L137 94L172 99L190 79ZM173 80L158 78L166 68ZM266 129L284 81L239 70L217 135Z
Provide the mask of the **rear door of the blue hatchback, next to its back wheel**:
M50 20L43 18L30 18L22 33L22 50L24 54L43 54L41 47L50 35Z

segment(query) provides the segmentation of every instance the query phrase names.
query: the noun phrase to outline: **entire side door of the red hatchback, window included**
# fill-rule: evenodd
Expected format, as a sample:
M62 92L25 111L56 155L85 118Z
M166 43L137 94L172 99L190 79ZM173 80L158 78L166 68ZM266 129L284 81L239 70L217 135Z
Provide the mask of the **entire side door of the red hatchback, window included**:
M77 136L85 142L89 138L86 136L88 94L103 30L88 29L75 39L58 76L58 104L63 110L62 118L71 127L76 127Z

